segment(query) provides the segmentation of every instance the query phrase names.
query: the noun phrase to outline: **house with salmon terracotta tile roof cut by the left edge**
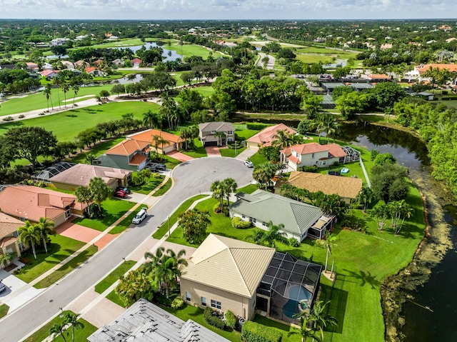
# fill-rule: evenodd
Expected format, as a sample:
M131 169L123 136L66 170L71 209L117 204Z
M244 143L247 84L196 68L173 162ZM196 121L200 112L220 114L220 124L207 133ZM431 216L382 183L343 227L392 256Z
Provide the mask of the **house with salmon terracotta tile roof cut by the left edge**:
M47 217L59 226L71 216L83 216L86 203L76 201L69 193L39 188L38 186L1 186L0 208L20 221L38 222Z

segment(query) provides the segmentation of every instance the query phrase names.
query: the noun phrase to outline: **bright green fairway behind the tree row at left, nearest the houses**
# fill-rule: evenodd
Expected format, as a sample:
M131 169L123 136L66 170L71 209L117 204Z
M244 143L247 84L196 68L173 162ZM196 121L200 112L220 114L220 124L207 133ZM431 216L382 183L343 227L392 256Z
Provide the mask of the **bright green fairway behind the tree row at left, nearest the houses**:
M4 113L3 106L2 104L2 114ZM158 104L143 101L112 102L101 106L72 109L58 114L1 124L0 134L4 134L11 127L39 126L52 131L59 141L73 141L79 132L84 131L84 129L91 129L101 122L119 120L123 114L127 113L133 113L135 119L141 119L142 113L149 109L156 111L158 108Z

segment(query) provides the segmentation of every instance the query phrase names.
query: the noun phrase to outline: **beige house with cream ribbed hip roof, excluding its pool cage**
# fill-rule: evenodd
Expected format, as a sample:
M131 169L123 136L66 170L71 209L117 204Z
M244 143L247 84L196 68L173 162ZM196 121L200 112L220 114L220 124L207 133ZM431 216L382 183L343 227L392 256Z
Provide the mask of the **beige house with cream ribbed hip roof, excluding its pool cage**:
M194 306L230 310L249 319L258 284L274 253L274 248L209 234L182 271L181 296Z

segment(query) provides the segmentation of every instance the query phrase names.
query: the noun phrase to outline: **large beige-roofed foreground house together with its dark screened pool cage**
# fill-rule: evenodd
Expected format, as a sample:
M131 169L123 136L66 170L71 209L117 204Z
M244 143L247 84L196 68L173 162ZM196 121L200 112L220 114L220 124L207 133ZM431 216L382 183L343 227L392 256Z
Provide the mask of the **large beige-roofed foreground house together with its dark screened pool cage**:
M221 316L230 310L240 323L256 310L298 323L293 316L312 306L321 269L273 248L209 234L181 272L181 296Z

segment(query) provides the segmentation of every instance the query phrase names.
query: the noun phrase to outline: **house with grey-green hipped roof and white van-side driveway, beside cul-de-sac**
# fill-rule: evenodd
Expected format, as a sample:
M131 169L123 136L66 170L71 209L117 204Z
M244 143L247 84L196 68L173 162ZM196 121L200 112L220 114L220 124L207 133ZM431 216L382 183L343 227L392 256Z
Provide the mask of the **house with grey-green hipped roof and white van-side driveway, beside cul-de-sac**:
M236 193L236 202L229 206L229 213L231 218L238 216L263 230L268 230L269 221L276 226L283 224L281 232L298 242L303 241L310 230L311 237L322 238L333 220L324 216L321 208L260 189L251 194ZM321 223L325 224L321 226Z

